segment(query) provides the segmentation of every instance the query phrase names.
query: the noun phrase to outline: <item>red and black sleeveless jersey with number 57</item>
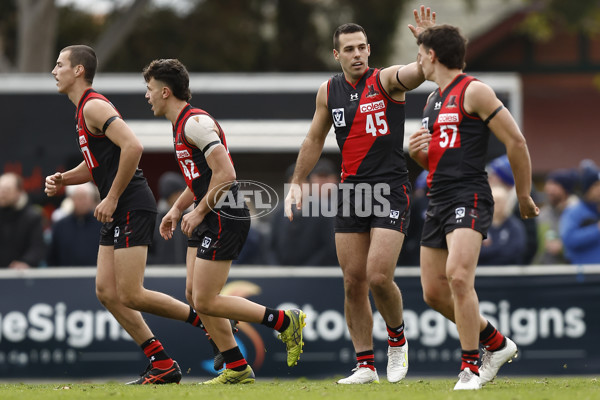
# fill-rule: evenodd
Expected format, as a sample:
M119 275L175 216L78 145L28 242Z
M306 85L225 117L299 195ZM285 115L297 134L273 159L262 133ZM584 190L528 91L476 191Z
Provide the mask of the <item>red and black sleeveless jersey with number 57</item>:
M490 130L463 105L465 90L474 80L458 75L443 93L439 88L433 92L425 105L422 122L432 135L427 153L432 204L464 196L492 201L485 172Z

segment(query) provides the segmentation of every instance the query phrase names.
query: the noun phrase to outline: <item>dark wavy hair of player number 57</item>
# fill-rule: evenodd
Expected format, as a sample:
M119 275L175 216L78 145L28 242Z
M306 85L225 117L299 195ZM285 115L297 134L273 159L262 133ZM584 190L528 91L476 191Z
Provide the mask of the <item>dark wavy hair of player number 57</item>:
M464 69L467 39L452 25L432 26L417 38L417 44L435 51L440 63L450 69Z

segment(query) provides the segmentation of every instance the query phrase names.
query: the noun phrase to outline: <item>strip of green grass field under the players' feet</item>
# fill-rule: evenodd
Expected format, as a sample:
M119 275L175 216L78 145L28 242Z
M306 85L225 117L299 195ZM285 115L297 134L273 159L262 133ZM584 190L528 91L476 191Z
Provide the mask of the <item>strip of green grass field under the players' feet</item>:
M2 400L596 400L600 399L597 377L498 378L480 391L454 392L455 379L407 379L398 384L385 380L379 385L336 385L328 380L258 381L254 385L199 386L194 381L180 385L126 386L122 383L0 383Z

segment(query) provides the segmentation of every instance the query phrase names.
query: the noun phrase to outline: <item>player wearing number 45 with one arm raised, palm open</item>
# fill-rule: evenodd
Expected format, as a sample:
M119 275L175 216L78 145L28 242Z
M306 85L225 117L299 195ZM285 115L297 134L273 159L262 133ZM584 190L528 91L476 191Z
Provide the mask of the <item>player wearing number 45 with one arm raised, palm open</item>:
M415 37L435 24L435 13L414 10ZM356 351L354 373L341 384L379 382L373 350L369 291L388 331L387 378L398 382L408 371L402 296L394 271L409 222L410 184L403 152L404 101L424 77L416 63L369 68L367 34L344 24L333 37L333 56L342 73L317 92L312 124L298 154L286 215L302 207L302 187L315 166L332 125L342 153L335 241L344 274L344 310ZM306 191L305 191L306 192Z

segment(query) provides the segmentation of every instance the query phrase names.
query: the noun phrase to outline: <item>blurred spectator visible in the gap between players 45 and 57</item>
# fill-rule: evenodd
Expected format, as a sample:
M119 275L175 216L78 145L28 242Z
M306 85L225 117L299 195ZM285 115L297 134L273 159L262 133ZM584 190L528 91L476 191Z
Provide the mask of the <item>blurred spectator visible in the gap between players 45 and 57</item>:
M419 266L421 253L421 232L425 222L427 198L427 170L423 170L417 179L410 196L410 224L404 239L404 245L398 258L398 265Z

